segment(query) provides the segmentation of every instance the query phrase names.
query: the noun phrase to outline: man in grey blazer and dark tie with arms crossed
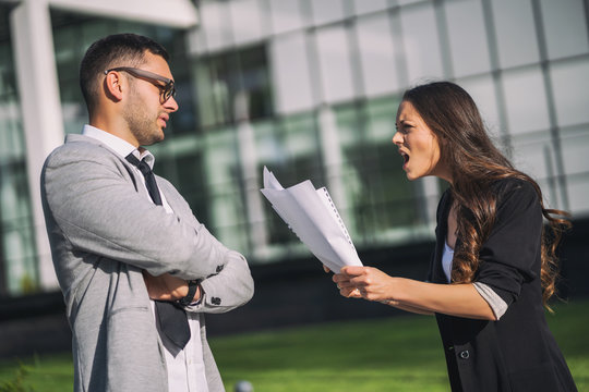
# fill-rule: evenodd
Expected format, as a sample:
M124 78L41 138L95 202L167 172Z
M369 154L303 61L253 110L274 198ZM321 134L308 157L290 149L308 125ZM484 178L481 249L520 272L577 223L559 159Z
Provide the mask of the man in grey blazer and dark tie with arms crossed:
M75 391L224 391L203 314L253 295L243 256L151 171L142 146L163 140L178 110L167 60L160 45L133 34L93 44L80 66L89 124L43 170Z

